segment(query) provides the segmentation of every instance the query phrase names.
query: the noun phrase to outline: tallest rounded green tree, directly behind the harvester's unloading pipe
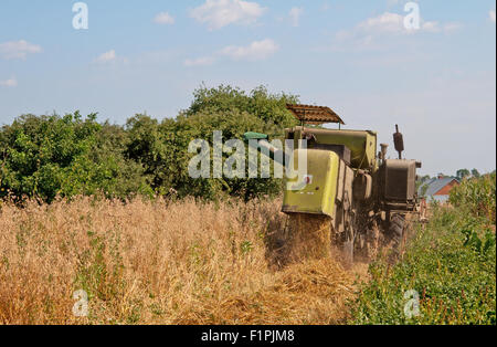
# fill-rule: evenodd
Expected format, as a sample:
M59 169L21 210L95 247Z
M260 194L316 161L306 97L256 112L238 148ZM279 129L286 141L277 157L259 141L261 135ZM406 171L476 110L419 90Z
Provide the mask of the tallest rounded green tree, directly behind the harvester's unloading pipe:
M287 104L298 103L298 97L285 93L272 94L264 86L245 93L237 87L225 85L215 88L202 85L193 96L191 106L177 117L176 123L163 125L163 128L168 129L165 134L176 134L175 139L171 139L176 141L175 155L181 157L181 160L177 161L181 174L176 176L180 179L175 180L175 190L182 194L192 193L209 199L220 193L242 197L245 200L278 193L282 189L281 179L192 180L187 175L188 161L192 155L186 150L192 139L204 139L212 145L214 130L222 132L224 140L242 139L246 132L283 138L285 128L298 125L297 119L286 108Z

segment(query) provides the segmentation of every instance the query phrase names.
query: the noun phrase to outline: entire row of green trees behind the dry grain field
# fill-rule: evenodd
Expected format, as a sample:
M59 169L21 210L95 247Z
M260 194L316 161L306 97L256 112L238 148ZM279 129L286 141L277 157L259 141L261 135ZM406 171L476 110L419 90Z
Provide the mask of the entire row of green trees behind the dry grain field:
M271 94L262 86L246 94L221 85L197 90L190 108L162 122L136 115L118 126L97 123L96 114L83 118L78 112L24 115L0 129L0 198L51 202L57 196L97 193L208 200L274 196L281 180L190 178L194 154L188 147L193 139L212 145L214 130L223 132L224 140L242 139L248 130L282 138L285 127L296 125L286 109L296 102L296 96Z

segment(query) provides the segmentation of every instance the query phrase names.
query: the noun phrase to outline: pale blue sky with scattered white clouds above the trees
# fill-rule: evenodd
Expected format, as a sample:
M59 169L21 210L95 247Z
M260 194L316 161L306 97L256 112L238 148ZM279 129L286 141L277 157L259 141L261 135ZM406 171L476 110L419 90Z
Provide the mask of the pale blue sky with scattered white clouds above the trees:
M173 117L202 82L264 84L382 143L400 124L423 174L496 168L495 1L420 0L411 31L401 0L87 0L87 30L75 2L0 2L0 124Z

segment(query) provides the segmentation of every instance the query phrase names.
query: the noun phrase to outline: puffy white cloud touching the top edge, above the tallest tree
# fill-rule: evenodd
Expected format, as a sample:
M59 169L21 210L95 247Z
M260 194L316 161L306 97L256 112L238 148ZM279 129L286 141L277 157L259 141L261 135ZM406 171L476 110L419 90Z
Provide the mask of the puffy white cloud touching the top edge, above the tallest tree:
M257 2L242 0L207 0L204 4L190 11L190 15L210 30L230 24L252 24L264 14L265 8Z

